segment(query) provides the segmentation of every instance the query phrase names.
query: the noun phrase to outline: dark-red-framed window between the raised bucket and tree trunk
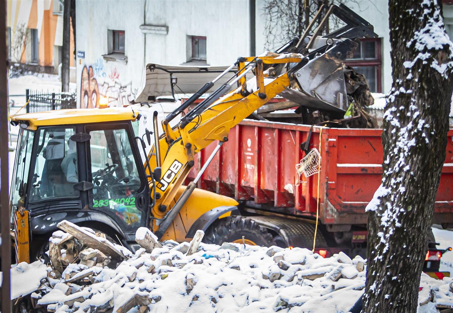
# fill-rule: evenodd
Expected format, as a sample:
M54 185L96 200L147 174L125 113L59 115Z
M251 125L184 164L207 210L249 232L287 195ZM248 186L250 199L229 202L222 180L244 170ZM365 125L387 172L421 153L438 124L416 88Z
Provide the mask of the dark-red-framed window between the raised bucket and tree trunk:
M365 75L371 92L382 92L381 38L361 39L354 55L345 63Z

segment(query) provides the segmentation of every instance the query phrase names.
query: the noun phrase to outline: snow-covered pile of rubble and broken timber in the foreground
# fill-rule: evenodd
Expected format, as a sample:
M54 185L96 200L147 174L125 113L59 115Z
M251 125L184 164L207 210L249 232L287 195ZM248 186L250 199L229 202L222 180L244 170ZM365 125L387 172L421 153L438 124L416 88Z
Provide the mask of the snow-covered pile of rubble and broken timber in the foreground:
M132 253L91 229L67 221L58 227L49 266L37 261L11 270L13 284L33 273L34 281L13 290L15 303L29 299L34 312L348 312L365 288L360 256L203 244L202 231L190 243L160 243L144 227ZM452 279L422 274L420 286L419 312L453 303Z

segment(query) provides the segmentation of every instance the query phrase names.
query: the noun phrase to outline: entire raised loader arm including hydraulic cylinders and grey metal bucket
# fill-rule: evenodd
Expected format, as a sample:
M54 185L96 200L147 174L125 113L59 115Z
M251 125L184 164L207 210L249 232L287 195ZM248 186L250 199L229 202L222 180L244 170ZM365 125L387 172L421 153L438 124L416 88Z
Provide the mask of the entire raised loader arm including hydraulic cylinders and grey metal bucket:
M325 6L320 8L315 20L320 20L320 14L325 9L327 9ZM346 26L320 36L323 24L331 14L342 19ZM220 76L206 83L186 101L186 104L182 104L163 120L164 133L159 137L160 154L157 154L160 155L160 162L156 162L154 147L148 155L151 168L161 164L162 175L160 181L155 183L156 194L152 208L154 218L160 220L159 226L152 225L158 237L164 235L195 189L201 173L206 169L220 145L228 140L231 128L274 96L280 94L303 106L311 105L337 112L346 111L349 98L352 99L352 97L347 94L343 62L352 56L352 52L357 47L355 39L377 37L377 35L368 22L343 5L340 7L331 5L317 29L309 35L308 32L312 26L313 23L300 40L292 39L276 53L238 58L237 62L221 76L234 66L237 66L236 74L188 111L173 129L170 128L169 121L188 109L189 104L193 104L199 96L212 87ZM309 40L307 42L304 39ZM290 66L290 63L293 66ZM254 85L250 92L251 88L247 88L245 75L252 69L254 69L256 82L249 81ZM274 77L268 77L268 75L274 75ZM189 183L177 198L180 187L194 165L194 155L213 141L219 142L217 148L214 149L194 181ZM150 184L154 185L151 176Z

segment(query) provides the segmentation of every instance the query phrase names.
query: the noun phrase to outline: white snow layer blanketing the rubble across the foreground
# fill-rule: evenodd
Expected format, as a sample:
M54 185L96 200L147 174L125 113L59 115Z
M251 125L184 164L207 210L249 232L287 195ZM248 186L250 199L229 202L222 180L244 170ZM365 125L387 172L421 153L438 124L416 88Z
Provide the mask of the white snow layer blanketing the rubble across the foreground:
M140 232L145 236L145 231ZM56 235L66 236L61 231ZM94 271L94 281L78 286L67 284L64 278L52 279L53 288L47 289L38 304L57 312L88 312L110 303L116 312L138 294L153 299L148 306L150 312L348 312L365 287L366 265L361 272L356 269L357 262L366 263L360 256L351 259L340 252L324 259L304 248L231 244L238 248L236 251L203 243L196 253L187 256L178 251L182 245L188 243L175 246L173 241L165 241L162 248L152 253L140 249L116 268L70 264L63 277L75 272L75 279ZM276 260L286 267L280 268ZM154 271L149 273L151 265ZM329 279L338 269L349 279ZM21 263L11 271L13 279L22 282L20 294L29 294L37 289L48 270L50 267L37 261L31 265ZM272 274L275 279L270 279ZM318 277L308 278L309 275ZM188 288L187 279L193 279L192 289ZM422 274L419 299L432 289L435 303L448 303L453 297L448 291L452 281ZM419 312L429 312L427 306L432 304L420 307Z

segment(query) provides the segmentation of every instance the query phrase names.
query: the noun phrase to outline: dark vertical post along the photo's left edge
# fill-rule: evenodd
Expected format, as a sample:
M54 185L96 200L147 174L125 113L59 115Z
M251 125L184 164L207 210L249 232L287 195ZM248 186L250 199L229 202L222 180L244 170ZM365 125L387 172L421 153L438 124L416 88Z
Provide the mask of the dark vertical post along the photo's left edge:
M6 17L6 1L0 0L0 16ZM0 43L6 43L6 18L0 30ZM0 142L8 142L8 44L0 45ZM1 311L11 312L11 239L10 239L10 205L8 203L8 149L0 149L0 234L1 234Z

